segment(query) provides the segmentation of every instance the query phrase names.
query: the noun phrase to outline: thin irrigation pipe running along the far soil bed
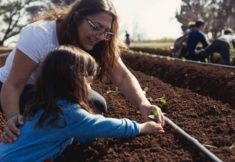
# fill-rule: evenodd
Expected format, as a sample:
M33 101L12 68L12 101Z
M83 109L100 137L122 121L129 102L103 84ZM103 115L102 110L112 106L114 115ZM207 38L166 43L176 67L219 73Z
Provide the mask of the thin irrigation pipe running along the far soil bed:
M145 56L151 56L151 57L164 58L166 60L170 58L170 60L173 60L173 61L177 60L177 61L182 61L182 62L190 62L190 63L195 63L195 64L202 64L202 65L209 65L209 66L216 66L216 67L224 67L224 68L235 69L235 66L222 65L222 64L213 64L213 63L206 63L206 62L200 62L200 61L192 61L192 60L175 58L175 57L171 57L171 56L161 56L161 55L156 55L156 54L150 54L150 53L147 53L147 52L132 51L131 53L134 53L134 54L137 54L137 55L145 55Z

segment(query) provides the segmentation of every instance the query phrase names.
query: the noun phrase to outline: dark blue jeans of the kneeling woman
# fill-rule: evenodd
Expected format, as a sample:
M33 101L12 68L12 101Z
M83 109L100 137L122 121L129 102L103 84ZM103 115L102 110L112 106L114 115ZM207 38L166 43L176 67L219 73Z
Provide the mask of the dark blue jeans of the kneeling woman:
M2 82L0 82L0 89L2 88ZM24 112L25 106L30 103L33 99L33 85L27 84L23 92L20 95L20 113ZM106 100L101 94L95 90L90 90L88 94L88 101L91 103L93 108L95 108L97 113L107 112Z

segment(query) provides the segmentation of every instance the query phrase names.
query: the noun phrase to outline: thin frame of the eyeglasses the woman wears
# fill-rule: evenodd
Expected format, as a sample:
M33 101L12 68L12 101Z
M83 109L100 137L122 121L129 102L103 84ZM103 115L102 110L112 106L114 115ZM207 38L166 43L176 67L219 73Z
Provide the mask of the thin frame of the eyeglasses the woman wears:
M88 24L90 25L90 27L92 28L93 33L94 33L96 36L103 34L104 40L106 40L106 41L110 40L110 39L112 38L112 36L114 36L114 33L113 33L113 32L110 32L110 31L101 31L101 28L98 27L98 26L96 26L96 25L95 25L96 22L93 22L91 19L89 19L89 18L87 18L87 17L86 17L85 19L86 19L86 21L88 22ZM98 23L98 22L97 22L97 23ZM105 34L109 35L110 38L106 38L106 35L105 35Z

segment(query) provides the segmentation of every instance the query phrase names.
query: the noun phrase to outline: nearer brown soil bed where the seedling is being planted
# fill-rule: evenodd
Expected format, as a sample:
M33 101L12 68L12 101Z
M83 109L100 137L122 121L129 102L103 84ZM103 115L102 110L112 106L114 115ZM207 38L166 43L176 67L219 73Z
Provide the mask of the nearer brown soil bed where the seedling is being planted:
M133 71L147 96L153 99L165 96L163 112L186 132L223 161L235 160L235 112L228 104L201 96L190 90L173 87L159 79ZM137 108L131 106L111 84L93 87L104 94L109 110L105 116L128 117L141 122ZM108 93L110 92L111 93ZM155 103L158 104L158 103ZM64 153L68 161L209 161L168 125L166 133L144 135L126 140L103 139L88 145L73 144Z

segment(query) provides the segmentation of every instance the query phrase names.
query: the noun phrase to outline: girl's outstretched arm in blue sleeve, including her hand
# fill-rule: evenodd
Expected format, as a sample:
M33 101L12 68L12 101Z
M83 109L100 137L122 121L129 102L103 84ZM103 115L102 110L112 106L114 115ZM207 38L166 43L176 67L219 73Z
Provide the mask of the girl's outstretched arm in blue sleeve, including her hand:
M78 109L70 124L72 136L81 143L93 141L97 138L128 138L144 133L164 132L161 125L155 122L138 124L127 118L105 118L101 115L93 115L83 109ZM69 120L69 119L68 119Z

